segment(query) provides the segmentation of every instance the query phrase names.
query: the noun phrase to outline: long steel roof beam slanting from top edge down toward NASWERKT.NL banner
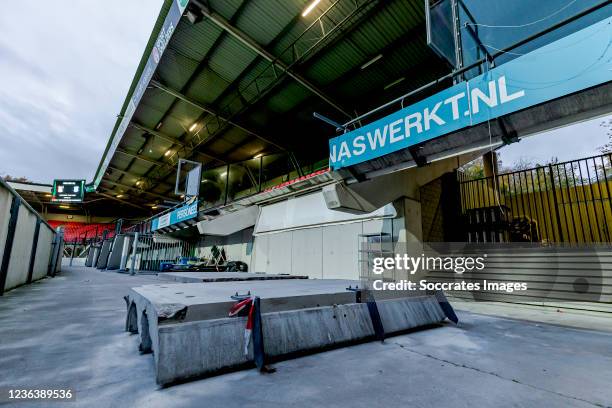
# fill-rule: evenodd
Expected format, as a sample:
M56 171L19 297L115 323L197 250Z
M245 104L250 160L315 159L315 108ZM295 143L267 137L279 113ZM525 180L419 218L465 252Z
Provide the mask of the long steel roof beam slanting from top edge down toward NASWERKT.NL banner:
M201 11L202 14L207 17L210 21L215 23L219 28L227 31L230 35L240 41L242 44L250 48L252 51L260 55L262 58L266 59L268 62L273 63L275 66L284 71L287 75L297 81L304 88L308 89L310 92L317 95L323 101L325 101L328 105L336 109L338 112L341 112L348 118L352 118L352 115L348 113L343 107L341 107L338 103L334 102L328 95L326 95L323 91L321 91L316 85L311 83L309 80L301 76L300 74L294 72L287 64L276 58L274 55L266 51L259 43L253 40L250 36L248 36L245 32L241 31L224 17L212 11L209 7L202 4L199 0L191 1L194 5L196 5Z

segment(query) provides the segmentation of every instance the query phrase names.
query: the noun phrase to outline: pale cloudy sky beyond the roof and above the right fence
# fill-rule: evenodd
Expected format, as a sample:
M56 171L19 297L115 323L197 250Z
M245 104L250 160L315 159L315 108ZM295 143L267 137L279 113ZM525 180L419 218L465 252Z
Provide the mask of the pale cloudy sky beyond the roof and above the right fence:
M20 0L0 14L0 175L91 181L162 0ZM504 148L504 164L595 153L601 119Z

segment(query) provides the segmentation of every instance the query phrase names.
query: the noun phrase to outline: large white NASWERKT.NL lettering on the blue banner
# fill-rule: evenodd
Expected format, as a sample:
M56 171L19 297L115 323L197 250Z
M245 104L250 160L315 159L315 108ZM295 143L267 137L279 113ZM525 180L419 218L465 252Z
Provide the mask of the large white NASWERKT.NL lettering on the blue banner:
M470 97L468 102L471 102L471 104L468 104L469 107L465 112L465 116L479 113L481 111L481 104L493 108L525 96L524 90L508 94L505 76L501 76L497 80L488 81L487 88L486 91L480 88L473 88L469 91ZM330 146L330 161L335 163L344 159L351 159L353 156L360 156L368 151L384 149L389 147L389 145L408 139L411 135L428 132L433 127L444 126L449 121L459 120L461 119L459 101L465 97L466 92L459 92L443 101L436 102L433 106L425 107L417 112L410 112L410 114L403 118L368 130L365 132L365 136L361 134L352 140L344 140L338 144L333 144ZM444 110L443 106L448 105L450 105L450 112L446 114L439 112Z

